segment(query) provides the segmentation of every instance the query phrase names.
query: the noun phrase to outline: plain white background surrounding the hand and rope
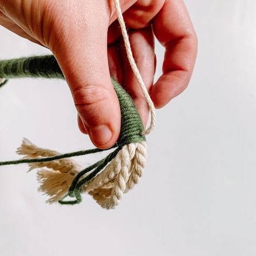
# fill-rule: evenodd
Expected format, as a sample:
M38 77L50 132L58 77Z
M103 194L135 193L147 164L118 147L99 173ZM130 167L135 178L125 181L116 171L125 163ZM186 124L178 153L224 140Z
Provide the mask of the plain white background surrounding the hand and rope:
M60 207L44 203L26 165L1 167L1 255L256 255L256 2L185 2L196 68L188 89L157 111L139 185L113 211L87 196ZM48 53L3 28L0 38L2 59ZM163 53L157 44L156 78ZM92 147L60 80L10 80L0 117L0 160L18 158L23 137L62 152Z

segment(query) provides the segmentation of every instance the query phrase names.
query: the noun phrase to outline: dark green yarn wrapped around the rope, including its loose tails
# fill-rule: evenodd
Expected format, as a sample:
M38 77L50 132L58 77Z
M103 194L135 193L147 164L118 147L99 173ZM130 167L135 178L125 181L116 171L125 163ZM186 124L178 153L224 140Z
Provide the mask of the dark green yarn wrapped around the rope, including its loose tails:
M29 58L18 58L10 60L0 61L0 78L4 78L4 82L0 84L0 87L7 82L9 78L22 78L22 77L42 77L42 78L61 78L64 79L62 70L59 68L58 62L53 55L35 56ZM144 126L142 119L139 116L136 105L134 104L130 95L118 84L116 80L111 79L114 90L117 93L120 110L121 110L121 130L118 142L112 148L116 150L112 151L107 157L99 160L97 163L87 167L77 174L73 179L69 188L69 193L66 196L75 197L75 200L64 201L60 200L60 204L77 204L82 201L80 196L81 189L88 181L94 178L104 167L116 157L118 151L122 149L124 145L130 143L143 142L145 136L142 135ZM40 159L20 159L12 161L0 162L0 166L11 164L23 164L23 163L38 163L45 161L52 161L62 158L82 156L90 153L97 153L103 150L92 149L85 151L77 151L71 153L65 153L54 157L46 157ZM88 176L83 178L85 173L89 173Z

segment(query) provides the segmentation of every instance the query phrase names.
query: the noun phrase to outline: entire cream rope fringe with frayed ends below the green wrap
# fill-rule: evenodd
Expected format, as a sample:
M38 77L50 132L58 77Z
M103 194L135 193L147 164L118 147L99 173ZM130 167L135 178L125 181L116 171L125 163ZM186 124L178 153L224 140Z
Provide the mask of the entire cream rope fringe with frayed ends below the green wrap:
M28 139L23 139L17 153L24 155L24 158L51 157L59 154L57 151L42 149ZM131 190L142 177L146 154L146 142L123 146L105 169L84 185L83 192L89 193L103 208L116 207L123 193ZM70 158L32 163L29 166L29 171L39 169L37 178L41 186L38 190L50 196L48 203L56 203L62 199L68 193L76 174L83 169Z

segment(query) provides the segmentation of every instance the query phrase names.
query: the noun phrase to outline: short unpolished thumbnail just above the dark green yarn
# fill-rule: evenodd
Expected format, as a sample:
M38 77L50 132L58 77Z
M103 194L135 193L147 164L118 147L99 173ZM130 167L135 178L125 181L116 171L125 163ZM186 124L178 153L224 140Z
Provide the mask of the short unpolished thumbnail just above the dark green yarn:
M92 141L97 145L106 144L111 140L112 136L112 131L107 125L90 127L90 137Z

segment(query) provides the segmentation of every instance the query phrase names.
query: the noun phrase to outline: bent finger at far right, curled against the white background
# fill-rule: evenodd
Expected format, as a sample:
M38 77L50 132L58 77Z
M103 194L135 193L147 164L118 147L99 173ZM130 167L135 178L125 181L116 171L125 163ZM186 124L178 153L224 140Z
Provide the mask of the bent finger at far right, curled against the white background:
M158 108L185 90L197 56L197 37L181 0L166 0L153 19L154 34L165 46L163 75L153 86L151 98Z

